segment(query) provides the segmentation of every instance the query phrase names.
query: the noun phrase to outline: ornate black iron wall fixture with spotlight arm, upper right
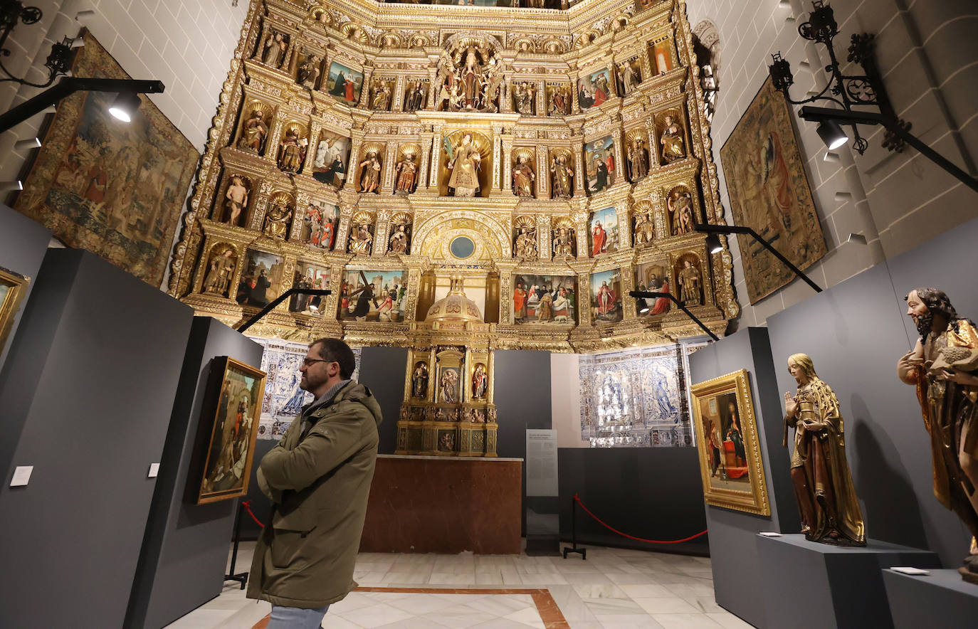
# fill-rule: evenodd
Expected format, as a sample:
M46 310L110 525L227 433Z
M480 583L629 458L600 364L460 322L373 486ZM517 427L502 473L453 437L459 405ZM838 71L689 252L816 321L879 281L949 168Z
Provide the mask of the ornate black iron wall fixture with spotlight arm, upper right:
M858 64L863 68L862 74L844 74L835 56L833 39L839 34L838 23L832 8L825 5L823 0L813 0L812 13L808 22L798 26L798 33L808 39L820 43L828 51L830 63L825 66L829 74L828 82L821 92L807 99L796 101L788 95L788 88L794 83L791 75L791 64L781 57L772 55L772 64L768 67L772 83L784 99L792 105L808 103L833 103L836 108L802 107L799 117L809 122L819 123L819 137L828 149L834 150L848 142L849 136L842 130L842 125L852 128L853 148L860 155L866 153L869 143L860 135L859 124L882 125L886 129L883 137L883 148L888 151L902 153L906 145L911 145L924 157L953 175L965 186L978 192L978 179L958 168L950 159L941 156L915 136L911 135L911 123L900 118L893 109L882 76L876 67L874 56L875 35L871 33L854 34L850 40L846 61ZM875 111L854 108L873 108Z

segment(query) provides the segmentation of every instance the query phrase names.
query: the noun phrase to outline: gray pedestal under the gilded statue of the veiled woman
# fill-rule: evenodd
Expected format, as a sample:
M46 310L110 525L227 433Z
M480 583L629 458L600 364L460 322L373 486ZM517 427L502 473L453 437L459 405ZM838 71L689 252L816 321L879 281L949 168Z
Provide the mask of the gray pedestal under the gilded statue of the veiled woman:
M868 540L866 548L819 544L793 534L757 536L769 627L892 627L883 569L936 568L930 551ZM917 625L923 626L923 625Z

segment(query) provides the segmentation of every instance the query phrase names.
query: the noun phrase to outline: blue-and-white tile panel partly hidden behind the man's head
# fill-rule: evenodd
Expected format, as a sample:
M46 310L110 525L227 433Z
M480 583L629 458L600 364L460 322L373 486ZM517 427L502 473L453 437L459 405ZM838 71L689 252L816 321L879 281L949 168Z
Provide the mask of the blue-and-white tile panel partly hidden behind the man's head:
M265 372L265 391L261 402L261 419L258 424L259 439L279 440L286 428L302 412L302 407L313 401L313 394L299 388L302 374L299 367L309 345L281 338L249 337L263 348L261 371ZM360 373L360 348L353 348L356 369L353 380Z

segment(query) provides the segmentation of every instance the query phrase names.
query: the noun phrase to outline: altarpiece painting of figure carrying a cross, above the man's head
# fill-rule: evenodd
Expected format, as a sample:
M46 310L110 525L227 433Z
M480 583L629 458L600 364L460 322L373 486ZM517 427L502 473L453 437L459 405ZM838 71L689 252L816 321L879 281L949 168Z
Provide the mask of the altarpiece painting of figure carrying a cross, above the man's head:
M342 321L404 321L406 270L347 270L339 290Z

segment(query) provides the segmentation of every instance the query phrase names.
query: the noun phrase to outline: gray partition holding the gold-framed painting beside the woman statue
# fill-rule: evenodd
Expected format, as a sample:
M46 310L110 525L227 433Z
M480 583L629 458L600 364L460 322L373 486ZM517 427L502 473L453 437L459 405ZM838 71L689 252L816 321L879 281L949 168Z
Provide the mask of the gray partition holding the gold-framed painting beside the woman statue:
M717 603L752 625L764 627L767 624L755 537L761 531L790 533L800 528L788 476L789 453L781 446L783 414L768 331L745 328L689 356L690 382L693 383L740 369L747 370L754 399L771 516L755 516L707 505L706 520Z

